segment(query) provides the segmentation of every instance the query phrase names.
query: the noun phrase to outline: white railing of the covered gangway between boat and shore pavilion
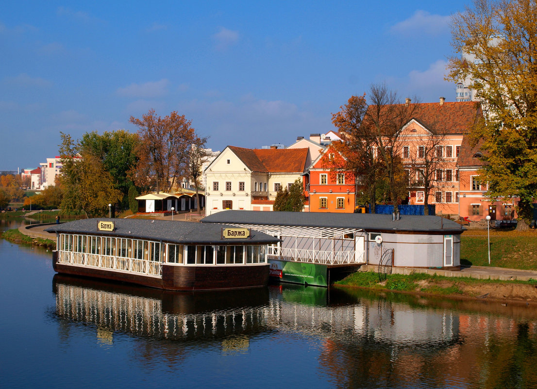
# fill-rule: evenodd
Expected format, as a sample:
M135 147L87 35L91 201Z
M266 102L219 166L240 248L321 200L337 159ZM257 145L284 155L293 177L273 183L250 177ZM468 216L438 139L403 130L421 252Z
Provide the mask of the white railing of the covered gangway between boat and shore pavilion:
M318 263L323 265L339 265L347 263L363 263L364 253L356 257L354 250L351 251L319 251L292 248L277 248L269 246L269 257L274 259L281 257L286 261Z

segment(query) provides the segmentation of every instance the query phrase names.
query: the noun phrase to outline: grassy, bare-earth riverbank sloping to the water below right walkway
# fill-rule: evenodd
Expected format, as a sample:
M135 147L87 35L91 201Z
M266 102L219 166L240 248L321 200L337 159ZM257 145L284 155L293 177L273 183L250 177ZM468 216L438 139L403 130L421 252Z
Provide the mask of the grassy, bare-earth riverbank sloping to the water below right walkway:
M427 273L389 274L380 281L373 271L356 272L335 283L336 287L356 287L375 291L414 293L449 298L496 300L506 304L537 305L537 280L505 281L469 277L445 277Z

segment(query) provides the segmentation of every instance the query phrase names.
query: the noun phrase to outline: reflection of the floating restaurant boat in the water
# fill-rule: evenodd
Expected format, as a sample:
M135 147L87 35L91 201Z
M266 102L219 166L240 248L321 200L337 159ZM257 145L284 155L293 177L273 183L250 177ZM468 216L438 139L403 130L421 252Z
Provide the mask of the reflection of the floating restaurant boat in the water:
M170 292L56 274L56 315L114 332L172 340L253 336L266 325L266 288L244 291Z

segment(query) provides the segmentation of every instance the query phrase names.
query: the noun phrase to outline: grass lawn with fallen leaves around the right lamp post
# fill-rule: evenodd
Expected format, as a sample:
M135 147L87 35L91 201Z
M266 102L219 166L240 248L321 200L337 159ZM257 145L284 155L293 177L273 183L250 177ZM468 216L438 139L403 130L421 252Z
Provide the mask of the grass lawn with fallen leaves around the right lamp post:
M468 229L461 235L461 264L489 266L486 229ZM537 231L491 230L490 266L537 269Z

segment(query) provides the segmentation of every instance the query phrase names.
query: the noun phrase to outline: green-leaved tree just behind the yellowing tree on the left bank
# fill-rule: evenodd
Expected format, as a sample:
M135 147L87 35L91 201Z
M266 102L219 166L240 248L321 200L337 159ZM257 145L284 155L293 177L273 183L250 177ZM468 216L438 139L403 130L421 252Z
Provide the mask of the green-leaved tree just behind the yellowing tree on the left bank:
M129 207L128 191L133 182L128 178L128 172L137 163L135 150L139 142L137 134L124 129L105 131L102 135L96 131L85 133L79 141L80 153L97 157L103 168L110 173L114 188L123 194L122 209Z

